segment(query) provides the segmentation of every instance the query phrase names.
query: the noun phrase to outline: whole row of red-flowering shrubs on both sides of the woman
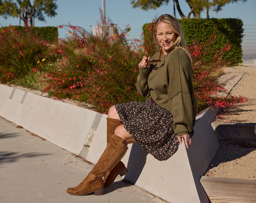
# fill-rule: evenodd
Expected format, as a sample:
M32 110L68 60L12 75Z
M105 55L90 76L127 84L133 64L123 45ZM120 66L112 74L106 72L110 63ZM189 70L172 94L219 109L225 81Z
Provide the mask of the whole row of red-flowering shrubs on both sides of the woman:
M138 63L152 45L152 23L145 27L147 36L128 42L130 27L117 30L111 20L102 18L98 30L91 35L82 27L60 26L70 37L47 43L32 31L21 35L12 27L0 32L0 81L17 83L25 78L26 86L36 88L42 83L45 92L57 98L71 98L91 104L92 109L107 113L116 103L145 101L135 88ZM109 30L115 31L114 35ZM230 45L215 48L218 34L211 34L202 43L188 47L194 63L194 88L201 111L209 106L232 106L244 102L243 97L217 96L224 84L215 82L213 72L230 65L225 54ZM155 49L154 51L157 51ZM153 51L152 51L153 53ZM209 58L211 56L211 58ZM24 80L23 80L24 81Z

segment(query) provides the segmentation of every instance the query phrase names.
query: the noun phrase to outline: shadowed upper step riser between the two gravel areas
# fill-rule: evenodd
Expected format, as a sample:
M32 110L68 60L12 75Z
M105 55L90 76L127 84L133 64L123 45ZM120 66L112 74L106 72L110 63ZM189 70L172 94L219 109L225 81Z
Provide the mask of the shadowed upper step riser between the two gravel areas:
M212 123L219 140L256 142L256 123Z

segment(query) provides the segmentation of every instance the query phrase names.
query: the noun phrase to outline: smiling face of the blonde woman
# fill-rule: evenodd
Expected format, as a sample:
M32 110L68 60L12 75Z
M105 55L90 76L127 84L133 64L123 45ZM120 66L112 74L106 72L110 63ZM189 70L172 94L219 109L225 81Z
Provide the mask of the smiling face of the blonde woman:
M168 54L172 51L172 43L176 40L176 34L172 32L172 28L169 23L160 22L156 27L156 39L161 47L164 44L163 52Z

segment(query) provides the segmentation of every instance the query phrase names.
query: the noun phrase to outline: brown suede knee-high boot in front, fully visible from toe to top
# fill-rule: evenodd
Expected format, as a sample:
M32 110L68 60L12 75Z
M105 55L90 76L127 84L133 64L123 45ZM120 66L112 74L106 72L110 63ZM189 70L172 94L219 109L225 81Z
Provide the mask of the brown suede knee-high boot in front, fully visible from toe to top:
M67 192L71 195L86 195L94 191L94 195L104 194L104 183L102 177L111 171L116 164L123 158L128 147L123 144L123 139L112 135L107 147L92 171L76 187L68 188Z

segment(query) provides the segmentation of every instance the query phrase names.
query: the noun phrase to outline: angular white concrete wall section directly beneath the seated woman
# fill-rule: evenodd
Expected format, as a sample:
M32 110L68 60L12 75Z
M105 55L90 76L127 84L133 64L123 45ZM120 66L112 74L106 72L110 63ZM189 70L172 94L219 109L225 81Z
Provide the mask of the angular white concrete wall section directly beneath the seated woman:
M218 110L209 108L197 115L190 151L182 144L168 160L156 160L138 143L129 144L122 159L128 169L124 179L168 202L208 202L199 180L219 148L211 127L217 113ZM92 163L98 161L107 146L106 118L107 115L102 116L91 146L84 146L80 153Z

